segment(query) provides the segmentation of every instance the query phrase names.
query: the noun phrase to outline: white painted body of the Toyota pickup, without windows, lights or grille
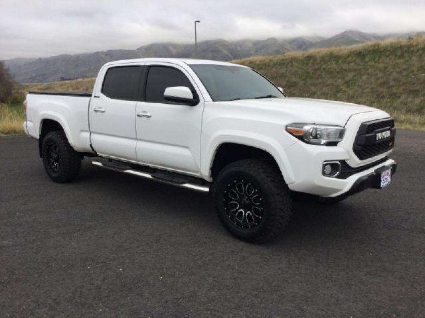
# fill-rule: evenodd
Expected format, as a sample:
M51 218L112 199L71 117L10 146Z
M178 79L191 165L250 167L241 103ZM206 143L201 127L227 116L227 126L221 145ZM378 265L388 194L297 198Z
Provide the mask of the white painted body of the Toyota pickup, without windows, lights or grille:
M196 106L112 100L102 95L103 77L117 65L170 65L181 70L193 84L200 103ZM265 98L213 102L190 64L226 62L184 59L136 59L105 64L94 86L99 98L36 95L27 96L24 129L36 139L42 120L56 120L76 151L96 152L123 161L160 167L212 181L211 166L220 145L228 142L249 145L270 153L291 190L321 196L348 191L354 182L377 167L347 179L324 177L323 161L346 160L359 167L382 159L391 151L359 160L352 145L361 123L389 117L367 106L306 98ZM103 113L94 112L102 107ZM146 112L151 117L137 117ZM89 125L90 120L90 125ZM346 128L337 146L309 145L285 131L290 123L316 123Z

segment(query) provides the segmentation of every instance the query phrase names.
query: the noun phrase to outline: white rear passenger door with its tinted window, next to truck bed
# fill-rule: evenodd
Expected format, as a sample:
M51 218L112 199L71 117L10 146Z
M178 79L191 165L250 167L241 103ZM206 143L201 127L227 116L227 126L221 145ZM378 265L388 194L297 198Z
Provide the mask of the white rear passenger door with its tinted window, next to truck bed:
M143 66L127 64L103 70L90 105L91 144L99 155L136 160L136 100Z

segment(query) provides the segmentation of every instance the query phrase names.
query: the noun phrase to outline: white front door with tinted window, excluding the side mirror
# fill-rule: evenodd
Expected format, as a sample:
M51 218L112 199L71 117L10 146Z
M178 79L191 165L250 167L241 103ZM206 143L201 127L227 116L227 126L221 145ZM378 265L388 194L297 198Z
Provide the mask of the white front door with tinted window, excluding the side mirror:
M136 106L137 161L198 175L202 95L183 67L149 62L146 69L145 94ZM200 102L189 106L165 100L164 90L172 86L189 87Z

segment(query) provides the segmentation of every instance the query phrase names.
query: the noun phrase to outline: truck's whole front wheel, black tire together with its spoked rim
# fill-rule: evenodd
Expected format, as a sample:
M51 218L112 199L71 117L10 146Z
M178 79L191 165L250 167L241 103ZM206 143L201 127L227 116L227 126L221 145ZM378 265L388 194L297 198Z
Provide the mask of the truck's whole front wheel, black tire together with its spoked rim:
M288 227L292 198L270 162L244 159L227 165L211 194L221 223L239 239L265 243Z

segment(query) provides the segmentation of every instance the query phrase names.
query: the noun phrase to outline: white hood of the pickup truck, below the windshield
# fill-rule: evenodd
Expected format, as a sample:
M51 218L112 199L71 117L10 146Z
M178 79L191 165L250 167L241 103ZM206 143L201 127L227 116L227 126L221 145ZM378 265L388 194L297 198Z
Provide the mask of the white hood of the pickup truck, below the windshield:
M285 117L292 123L316 123L345 126L348 119L364 112L379 111L376 108L333 100L312 98L259 98L232 100L235 107L243 107L249 112Z

